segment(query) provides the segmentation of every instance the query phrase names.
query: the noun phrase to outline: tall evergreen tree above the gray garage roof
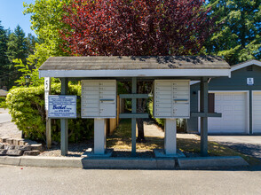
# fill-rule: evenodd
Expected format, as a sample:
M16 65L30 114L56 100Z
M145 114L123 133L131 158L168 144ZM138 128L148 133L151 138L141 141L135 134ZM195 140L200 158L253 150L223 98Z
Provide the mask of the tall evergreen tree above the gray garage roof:
M210 0L219 31L206 43L208 53L234 65L261 58L261 0Z

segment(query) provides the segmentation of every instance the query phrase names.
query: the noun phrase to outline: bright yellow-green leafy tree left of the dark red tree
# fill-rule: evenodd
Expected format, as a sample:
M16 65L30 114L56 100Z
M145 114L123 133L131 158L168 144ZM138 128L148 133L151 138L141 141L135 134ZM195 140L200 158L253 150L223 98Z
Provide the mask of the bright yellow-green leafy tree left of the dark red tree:
M35 44L35 47L28 47L29 51L34 52L28 56L27 64L20 59L15 60L16 66L23 73L17 81L20 85L24 85L24 75L30 75L31 84L34 86L44 84L44 78L39 79L38 68L51 56L66 55L60 47L62 39L59 30L67 27L61 20L64 14L63 6L68 2L70 1L36 0L35 4L24 3L24 14L32 14L31 27L35 30L37 40L28 40L28 45Z

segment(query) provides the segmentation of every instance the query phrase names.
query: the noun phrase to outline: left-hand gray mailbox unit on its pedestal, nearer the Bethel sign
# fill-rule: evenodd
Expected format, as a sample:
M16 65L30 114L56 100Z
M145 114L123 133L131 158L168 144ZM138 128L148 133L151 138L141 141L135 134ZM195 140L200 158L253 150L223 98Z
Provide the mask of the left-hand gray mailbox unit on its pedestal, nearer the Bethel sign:
M82 118L94 118L94 154L106 150L105 119L116 117L116 81L82 81Z

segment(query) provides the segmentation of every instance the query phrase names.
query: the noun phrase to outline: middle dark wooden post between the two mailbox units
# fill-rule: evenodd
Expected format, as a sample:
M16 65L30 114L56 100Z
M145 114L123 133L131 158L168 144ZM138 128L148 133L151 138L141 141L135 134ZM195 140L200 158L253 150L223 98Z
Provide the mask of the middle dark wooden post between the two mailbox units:
M132 78L132 94L137 93L137 78ZM131 113L137 112L137 99L131 98ZM131 156L136 156L136 118L131 118Z

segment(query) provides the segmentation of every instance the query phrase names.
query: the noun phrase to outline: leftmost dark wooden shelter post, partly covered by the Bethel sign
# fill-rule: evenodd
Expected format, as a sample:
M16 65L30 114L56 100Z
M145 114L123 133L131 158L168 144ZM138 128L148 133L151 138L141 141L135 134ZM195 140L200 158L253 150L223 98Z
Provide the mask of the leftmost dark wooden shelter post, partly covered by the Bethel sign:
M68 88L68 79L67 78L61 78L61 95L67 94L67 88ZM61 155L66 156L68 152L68 121L67 119L61 119L60 120L60 150Z

